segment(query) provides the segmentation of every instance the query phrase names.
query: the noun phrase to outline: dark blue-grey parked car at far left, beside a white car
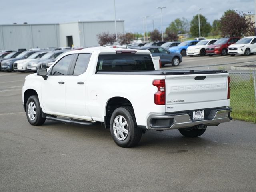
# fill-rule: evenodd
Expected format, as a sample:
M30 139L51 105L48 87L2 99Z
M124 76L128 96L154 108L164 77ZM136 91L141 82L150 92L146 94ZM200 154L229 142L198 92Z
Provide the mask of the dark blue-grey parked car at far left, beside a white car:
M5 70L8 72L14 71L14 62L15 61L26 59L35 52L37 52L37 51L24 51L21 54L19 54L18 56L16 56L16 58L4 60L1 64L1 70Z

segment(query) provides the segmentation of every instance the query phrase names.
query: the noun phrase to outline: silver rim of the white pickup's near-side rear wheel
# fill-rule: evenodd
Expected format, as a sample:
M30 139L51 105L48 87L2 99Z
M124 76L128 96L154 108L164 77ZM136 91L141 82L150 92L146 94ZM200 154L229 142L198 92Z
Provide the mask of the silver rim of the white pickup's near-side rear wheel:
M123 116L116 116L113 122L113 130L118 140L123 141L127 138L129 129L127 121Z

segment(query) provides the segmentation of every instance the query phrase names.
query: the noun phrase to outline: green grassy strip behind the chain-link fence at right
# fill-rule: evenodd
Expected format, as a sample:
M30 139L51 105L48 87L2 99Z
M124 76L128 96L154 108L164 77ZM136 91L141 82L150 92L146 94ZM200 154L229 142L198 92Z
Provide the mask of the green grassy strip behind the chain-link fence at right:
M256 123L256 101L252 75L241 77L231 76L232 117L236 120Z

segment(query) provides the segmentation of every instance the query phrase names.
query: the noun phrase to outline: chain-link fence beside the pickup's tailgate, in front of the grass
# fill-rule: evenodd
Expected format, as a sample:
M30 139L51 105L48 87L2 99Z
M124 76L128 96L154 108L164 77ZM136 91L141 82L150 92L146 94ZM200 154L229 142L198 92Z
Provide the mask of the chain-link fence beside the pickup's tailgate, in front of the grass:
M225 70L225 65L191 66L179 69ZM230 106L233 108L232 117L237 120L256 123L256 72L229 72L229 74L231 77Z

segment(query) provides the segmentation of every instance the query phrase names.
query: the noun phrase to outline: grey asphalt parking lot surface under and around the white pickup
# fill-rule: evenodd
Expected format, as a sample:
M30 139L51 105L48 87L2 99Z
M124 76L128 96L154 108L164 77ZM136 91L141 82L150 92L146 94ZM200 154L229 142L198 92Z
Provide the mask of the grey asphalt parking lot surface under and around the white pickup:
M256 60L228 57L186 57L180 67ZM0 72L0 191L256 190L256 124L233 120L199 138L148 131L137 147L120 148L102 126L31 126L26 75Z

